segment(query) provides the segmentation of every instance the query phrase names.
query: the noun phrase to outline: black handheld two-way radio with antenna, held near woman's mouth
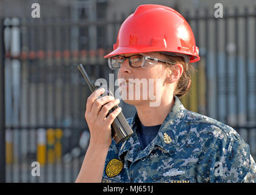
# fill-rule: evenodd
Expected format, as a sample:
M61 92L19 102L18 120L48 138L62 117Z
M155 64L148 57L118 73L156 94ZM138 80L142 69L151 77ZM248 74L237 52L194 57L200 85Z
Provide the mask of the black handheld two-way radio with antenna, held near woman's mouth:
M78 65L78 68L82 75L84 76L85 81L88 83L88 86L90 88L91 93L93 91L97 90L98 88L94 85L93 82L91 82L87 72L84 69L84 66L82 64ZM102 96L113 96L113 93L107 88L105 89L105 92L102 94ZM102 98L100 96L100 98ZM108 114L112 113L116 108L118 108L118 105L113 107ZM116 144L127 140L132 134L133 131L130 128L128 122L126 121L126 118L124 118L123 113L119 113L118 116L116 116L115 120L112 122L111 125L111 131L112 131L112 137Z

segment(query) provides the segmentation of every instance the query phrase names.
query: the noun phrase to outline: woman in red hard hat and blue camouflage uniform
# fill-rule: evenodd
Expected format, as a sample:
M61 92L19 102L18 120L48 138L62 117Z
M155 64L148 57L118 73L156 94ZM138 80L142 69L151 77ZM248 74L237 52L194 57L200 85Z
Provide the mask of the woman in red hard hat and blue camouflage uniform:
M154 100L142 95L135 99L135 93L124 99L137 109L127 119L134 133L115 144L110 125L121 108L107 113L119 100L97 99L104 91L94 91L85 112L90 146L76 182L256 181L255 162L240 135L179 101L190 88L190 63L200 59L193 32L180 13L163 5L140 5L124 21L113 52L105 57L110 68L119 68L122 94L144 91L136 91L130 79L154 79L148 87L160 96L160 104L151 106ZM160 94L155 92L159 86Z

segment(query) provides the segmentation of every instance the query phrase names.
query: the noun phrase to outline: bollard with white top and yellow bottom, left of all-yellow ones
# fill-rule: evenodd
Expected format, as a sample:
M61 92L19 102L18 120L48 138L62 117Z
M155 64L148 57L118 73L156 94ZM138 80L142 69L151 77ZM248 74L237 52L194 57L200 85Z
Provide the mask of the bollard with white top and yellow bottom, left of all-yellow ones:
M37 130L37 161L40 166L46 163L46 131L45 129Z

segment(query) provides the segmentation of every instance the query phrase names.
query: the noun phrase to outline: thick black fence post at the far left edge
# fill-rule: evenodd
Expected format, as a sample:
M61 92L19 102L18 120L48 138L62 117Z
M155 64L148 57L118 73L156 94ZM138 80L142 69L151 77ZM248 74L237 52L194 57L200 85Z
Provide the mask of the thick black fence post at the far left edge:
M0 19L0 183L5 182L4 19Z

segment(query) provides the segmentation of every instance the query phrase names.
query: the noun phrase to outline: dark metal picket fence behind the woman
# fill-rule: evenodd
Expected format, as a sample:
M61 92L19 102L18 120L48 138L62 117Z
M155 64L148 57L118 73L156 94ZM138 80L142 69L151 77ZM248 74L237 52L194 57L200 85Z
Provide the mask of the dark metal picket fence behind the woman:
M224 18L214 18L208 10L186 14L201 61L195 64L197 72L192 76L190 94L181 99L189 110L234 127L249 143L253 155L255 10L226 10ZM5 135L5 146L1 146L5 147L6 165L5 170L0 170L6 182L76 180L90 136L84 119L90 92L77 65L87 65L94 80L108 80L113 72L103 56L111 49L104 40L112 38L114 43L122 22L42 19L36 23L35 19L2 19L5 80L1 78L0 87L5 88L1 94L5 94L1 98L5 126L0 132ZM92 45L96 49L91 49ZM127 104L121 106L126 117L135 112ZM0 159L4 159L2 154ZM40 177L32 176L34 161L40 163Z

